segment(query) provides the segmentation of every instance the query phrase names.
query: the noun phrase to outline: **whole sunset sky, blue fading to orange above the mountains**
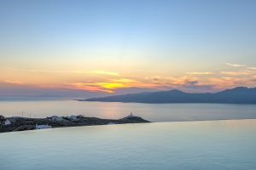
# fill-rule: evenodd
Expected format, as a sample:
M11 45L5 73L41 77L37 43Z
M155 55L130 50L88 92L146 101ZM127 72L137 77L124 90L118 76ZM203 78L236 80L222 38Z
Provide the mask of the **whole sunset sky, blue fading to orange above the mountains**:
M0 95L256 87L255 8L253 0L2 0Z

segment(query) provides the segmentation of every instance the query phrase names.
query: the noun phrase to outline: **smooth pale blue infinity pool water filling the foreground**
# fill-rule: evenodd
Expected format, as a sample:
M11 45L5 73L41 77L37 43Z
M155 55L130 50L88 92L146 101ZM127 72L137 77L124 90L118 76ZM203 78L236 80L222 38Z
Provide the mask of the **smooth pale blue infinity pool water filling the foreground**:
M0 153L1 170L255 170L256 120L1 133Z

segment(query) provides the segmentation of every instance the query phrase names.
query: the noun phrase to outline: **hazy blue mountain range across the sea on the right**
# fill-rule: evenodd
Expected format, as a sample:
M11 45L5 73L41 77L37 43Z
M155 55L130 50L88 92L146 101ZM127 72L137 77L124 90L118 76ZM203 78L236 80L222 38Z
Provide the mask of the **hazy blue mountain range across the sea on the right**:
M213 103L213 104L256 104L256 88L232 88L218 93L189 94L177 89L139 94L113 95L102 98L82 99L83 101L124 102L124 103Z

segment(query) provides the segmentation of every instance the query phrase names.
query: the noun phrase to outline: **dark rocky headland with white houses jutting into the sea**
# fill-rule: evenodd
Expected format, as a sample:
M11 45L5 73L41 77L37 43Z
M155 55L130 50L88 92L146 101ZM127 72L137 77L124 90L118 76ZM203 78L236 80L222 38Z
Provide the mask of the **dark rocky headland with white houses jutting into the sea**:
M126 116L121 119L101 119L86 116L51 116L46 118L4 117L0 116L0 133L26 131L55 127L79 127L92 125L144 123L139 116Z

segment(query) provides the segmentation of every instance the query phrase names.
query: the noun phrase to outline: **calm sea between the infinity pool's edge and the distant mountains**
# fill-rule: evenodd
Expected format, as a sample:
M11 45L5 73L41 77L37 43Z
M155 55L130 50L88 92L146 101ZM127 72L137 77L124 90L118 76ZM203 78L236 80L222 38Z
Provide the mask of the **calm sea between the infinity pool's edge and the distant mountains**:
M0 99L1 100L1 99ZM132 104L81 102L72 99L2 99L3 116L84 115L121 118L133 112L152 122L256 118L256 105Z

